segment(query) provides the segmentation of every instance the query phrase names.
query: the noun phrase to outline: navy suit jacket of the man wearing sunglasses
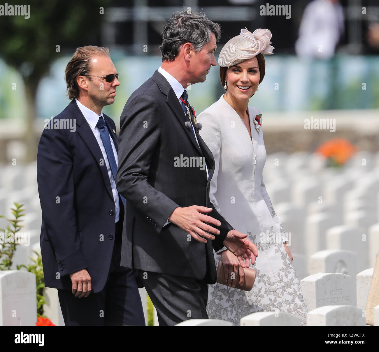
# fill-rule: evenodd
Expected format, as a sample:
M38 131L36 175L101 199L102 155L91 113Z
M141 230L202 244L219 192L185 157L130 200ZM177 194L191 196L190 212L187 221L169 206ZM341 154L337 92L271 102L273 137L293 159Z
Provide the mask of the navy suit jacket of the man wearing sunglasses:
M117 150L116 126L103 116ZM70 290L69 274L86 268L92 291L101 291L111 263L116 211L103 154L75 100L42 132L37 179L45 286ZM119 221L123 218L120 200Z

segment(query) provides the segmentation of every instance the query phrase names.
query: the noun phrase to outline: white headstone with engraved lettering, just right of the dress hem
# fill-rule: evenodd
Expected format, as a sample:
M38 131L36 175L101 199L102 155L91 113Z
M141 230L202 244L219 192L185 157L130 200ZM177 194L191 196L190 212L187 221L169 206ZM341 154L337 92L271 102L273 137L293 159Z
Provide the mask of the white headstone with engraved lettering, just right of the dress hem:
M337 273L318 273L300 282L308 311L323 305L350 305L351 278Z

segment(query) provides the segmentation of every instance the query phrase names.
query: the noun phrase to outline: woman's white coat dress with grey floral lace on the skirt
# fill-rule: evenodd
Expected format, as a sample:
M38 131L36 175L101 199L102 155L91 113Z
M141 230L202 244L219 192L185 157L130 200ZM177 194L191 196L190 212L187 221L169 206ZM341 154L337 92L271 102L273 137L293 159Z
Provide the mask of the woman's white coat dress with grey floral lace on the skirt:
M287 241L262 178L266 162L262 117L259 133L254 119L260 114L249 106L252 139L236 111L220 99L197 117L200 135L215 158L210 200L236 230L247 233L258 248L251 268L257 277L251 291L226 285L209 285L207 312L211 319L239 325L240 319L257 311L296 314L306 324L307 306L291 260L283 245ZM215 253L216 267L221 255Z

